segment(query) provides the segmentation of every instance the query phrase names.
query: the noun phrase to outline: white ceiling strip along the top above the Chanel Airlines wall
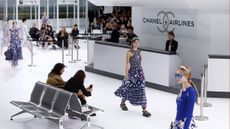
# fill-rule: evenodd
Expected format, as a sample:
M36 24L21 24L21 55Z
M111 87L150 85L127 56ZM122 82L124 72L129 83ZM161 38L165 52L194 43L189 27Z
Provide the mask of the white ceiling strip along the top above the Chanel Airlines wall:
M177 9L228 10L229 0L89 0L97 6L144 6Z

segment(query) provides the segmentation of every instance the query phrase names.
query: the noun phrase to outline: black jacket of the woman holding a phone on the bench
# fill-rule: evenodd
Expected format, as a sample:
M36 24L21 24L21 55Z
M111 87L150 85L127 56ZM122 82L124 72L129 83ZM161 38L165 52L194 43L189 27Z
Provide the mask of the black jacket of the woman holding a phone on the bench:
M85 96L91 96L91 92L88 92L85 89L83 82L79 80L74 80L73 78L70 78L66 82L64 89L73 93L77 93L79 90L81 90Z

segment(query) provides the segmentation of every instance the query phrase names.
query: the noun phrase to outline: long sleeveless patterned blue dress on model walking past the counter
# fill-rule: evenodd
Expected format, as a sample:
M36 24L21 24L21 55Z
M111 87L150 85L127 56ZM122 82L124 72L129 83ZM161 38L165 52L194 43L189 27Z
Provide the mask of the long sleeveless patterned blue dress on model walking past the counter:
M130 50L130 52L133 56L129 60L128 78L122 81L122 85L114 94L133 105L146 106L145 77L141 67L140 50Z

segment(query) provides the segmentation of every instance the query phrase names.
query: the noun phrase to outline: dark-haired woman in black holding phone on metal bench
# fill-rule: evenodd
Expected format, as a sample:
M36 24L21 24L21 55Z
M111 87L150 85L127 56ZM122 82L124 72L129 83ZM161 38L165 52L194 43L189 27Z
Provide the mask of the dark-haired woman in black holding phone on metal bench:
M88 88L85 88L84 86L85 77L86 75L83 70L77 71L75 75L66 82L64 88L67 91L76 93L82 105L86 104L85 96L91 96L91 92L93 90L92 88L93 85L90 85Z

